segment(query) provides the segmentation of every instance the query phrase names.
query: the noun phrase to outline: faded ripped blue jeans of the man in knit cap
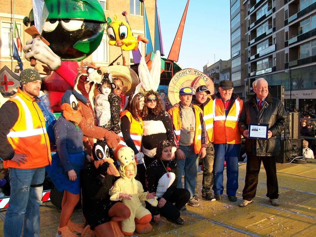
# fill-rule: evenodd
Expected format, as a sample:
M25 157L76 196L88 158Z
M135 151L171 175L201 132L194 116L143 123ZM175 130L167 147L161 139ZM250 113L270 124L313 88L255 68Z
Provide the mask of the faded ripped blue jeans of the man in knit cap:
M4 219L4 236L40 236L40 204L42 204L45 167L36 169L10 168L11 195ZM24 225L23 225L24 219Z

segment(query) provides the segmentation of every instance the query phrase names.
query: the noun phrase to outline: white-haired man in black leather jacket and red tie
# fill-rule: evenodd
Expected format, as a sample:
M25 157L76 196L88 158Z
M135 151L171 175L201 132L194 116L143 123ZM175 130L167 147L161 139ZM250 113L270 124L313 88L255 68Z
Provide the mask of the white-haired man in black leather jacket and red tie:
M261 161L267 175L267 197L274 206L278 206L278 184L276 178L276 157L280 152L280 133L287 123L287 114L281 100L273 98L268 91L268 82L259 78L252 83L255 94L248 100L242 109L239 119L239 130L248 137L249 123L268 124L268 139L246 139L247 167L245 187L242 191L244 207L252 203L256 196L258 174Z

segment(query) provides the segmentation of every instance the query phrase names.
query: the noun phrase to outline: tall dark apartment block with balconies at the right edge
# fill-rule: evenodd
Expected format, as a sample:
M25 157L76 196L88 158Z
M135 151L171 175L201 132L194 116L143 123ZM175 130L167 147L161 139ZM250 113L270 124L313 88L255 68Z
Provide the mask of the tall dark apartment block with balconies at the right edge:
M242 5L246 97L253 94L252 82L264 77L269 85L285 86L288 108L316 105L316 0L245 0Z

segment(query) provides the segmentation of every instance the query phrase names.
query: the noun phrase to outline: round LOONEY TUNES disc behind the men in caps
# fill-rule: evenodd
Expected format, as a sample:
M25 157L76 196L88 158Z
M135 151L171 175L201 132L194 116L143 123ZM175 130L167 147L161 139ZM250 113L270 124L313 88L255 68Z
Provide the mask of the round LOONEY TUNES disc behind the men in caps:
M214 94L214 83L210 77L203 72L192 68L178 71L173 75L168 86L168 98L170 103L174 105L179 102L179 90L181 88L190 87L194 94L196 89L201 85L206 85L211 95Z

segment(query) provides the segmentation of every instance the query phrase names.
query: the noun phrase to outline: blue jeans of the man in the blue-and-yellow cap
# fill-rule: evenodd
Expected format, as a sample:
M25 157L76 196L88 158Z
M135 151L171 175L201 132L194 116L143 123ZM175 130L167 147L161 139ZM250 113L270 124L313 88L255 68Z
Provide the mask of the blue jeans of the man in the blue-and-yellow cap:
M185 159L176 159L178 167L177 188L183 188L182 175L184 174L184 188L190 191L191 197L195 193L198 159L193 146L179 146L185 155Z

